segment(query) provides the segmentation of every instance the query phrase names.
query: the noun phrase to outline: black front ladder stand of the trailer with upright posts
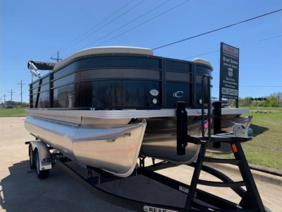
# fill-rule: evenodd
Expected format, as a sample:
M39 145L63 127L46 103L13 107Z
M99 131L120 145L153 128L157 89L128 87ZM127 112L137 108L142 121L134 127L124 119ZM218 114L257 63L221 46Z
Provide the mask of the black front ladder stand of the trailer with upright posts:
M236 137L234 134L226 133L221 131L221 102L215 102L214 105L214 134L211 133L211 99L210 99L210 76L202 76L202 136L189 136L187 132L187 121L185 114L185 102L178 102L177 106L177 153L178 155L185 154L185 146L188 143L195 143L200 145L200 151L198 153L197 162L195 163L195 169L192 175L190 189L185 202L185 209L191 211L192 208L197 208L200 211L266 211L262 204L262 199L259 196L259 191L255 184L255 180L252 177L252 172L245 158L243 148L241 146L242 142L250 141L251 138L240 138ZM204 105L204 78L207 78L207 104ZM207 106L208 112L204 112L204 106ZM207 117L207 122L204 122L204 117ZM204 124L208 123L208 132L205 135ZM207 146L212 143L214 148L219 148L221 143L229 143L231 149L235 156L235 159L225 159L225 158L207 158L205 156L207 152ZM203 163L228 163L233 165L238 165L238 171L242 176L243 180L238 182L233 182L232 179L228 177L220 177L223 182L213 182L200 179L200 172L206 168ZM230 187L233 191L241 197L239 204L224 204L222 201L218 204L216 202L207 202L214 206L205 206L204 204L199 204L195 200L197 196L197 185L201 184L209 187ZM241 187L246 188L244 190ZM206 199L206 201L208 201Z

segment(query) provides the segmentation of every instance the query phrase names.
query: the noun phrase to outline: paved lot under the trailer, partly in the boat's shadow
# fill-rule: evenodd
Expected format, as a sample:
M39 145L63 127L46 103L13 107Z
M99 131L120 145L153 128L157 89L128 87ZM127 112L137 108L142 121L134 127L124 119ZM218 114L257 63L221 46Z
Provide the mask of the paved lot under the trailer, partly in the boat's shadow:
M24 119L25 117L0 118L0 211L130 211L97 198L58 165L52 168L47 179L38 179L35 172L29 172L25 141L33 141L34 138L25 131ZM241 179L232 165L217 165L216 169L233 180ZM190 184L192 171L192 167L180 165L160 170L159 173ZM252 173L264 205L271 211L281 211L281 177L255 170ZM201 174L201 177L213 179L207 174ZM180 207L185 204L185 194L144 176L111 182L105 188L142 201ZM199 188L230 201L240 201L228 188Z

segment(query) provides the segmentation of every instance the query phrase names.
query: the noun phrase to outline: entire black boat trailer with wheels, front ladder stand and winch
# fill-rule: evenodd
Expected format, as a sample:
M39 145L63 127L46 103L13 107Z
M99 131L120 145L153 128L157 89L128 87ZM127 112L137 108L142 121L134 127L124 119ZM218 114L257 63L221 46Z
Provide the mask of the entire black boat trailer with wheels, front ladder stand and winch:
M210 93L210 76L204 75L202 77L202 86L204 85L204 78L208 78L208 94ZM204 90L204 89L202 89ZM204 100L204 93L202 93L202 100ZM203 101L204 102L204 101ZM204 107L208 105L208 109L204 110ZM68 174L74 177L80 184L82 184L85 189L94 194L95 196L108 201L111 204L121 206L123 208L128 208L135 211L161 211L161 212L175 212L175 211L270 211L266 208L262 199L259 195L255 180L250 172L250 167L247 164L243 148L241 146L242 142L252 140L252 130L243 129L244 136L237 135L243 126L235 126L233 128L233 133L221 131L221 102L215 102L214 105L214 134L211 133L211 112L209 107L211 105L210 96L208 96L207 105L202 105L202 136L189 136L187 127L187 112L185 110L185 102L178 102L176 117L177 117L177 154L185 154L185 146L188 143L195 143L200 145L200 151L197 155L197 161L189 164L189 166L194 167L192 179L189 184L184 184L175 179L171 179L164 175L157 173L157 170L163 170L168 167L176 167L175 164L162 161L160 163L155 163L154 158L152 158L153 165L145 166L144 156L139 156L140 164L135 167L135 171L127 177L137 177L142 175L148 177L148 179L153 179L156 182L166 185L171 189L175 189L178 192L182 192L186 195L185 206L183 208L177 206L168 206L162 204L153 204L152 202L143 202L135 199L128 199L124 196L119 196L113 194L112 192L102 189L100 186L109 182L115 182L121 179L126 179L123 177L117 177L109 172L100 170L97 167L86 166L87 176L82 176L79 172L73 169L68 162L72 160L68 158L68 155L62 153L50 153L51 146L47 146L44 141L41 141L37 136L35 136L36 141L25 142L29 144L29 154L30 154L30 168L36 170L37 177L44 179L48 177L49 170L53 165L59 165ZM207 111L207 112L205 112ZM207 122L204 121L204 117L207 117ZM207 124L208 133L205 133L204 124ZM239 125L239 124L238 124ZM221 143L229 143L231 145L233 155L235 159L221 159L221 158L207 158L205 153L207 151L207 146L212 143L214 146L221 146ZM35 151L37 148L37 151ZM40 158L42 160L40 160ZM219 170L212 167L204 165L203 163L225 163L238 165L238 171L242 176L243 180L234 182L233 179L223 174ZM214 177L221 180L221 182L213 182L200 179L200 172L204 171L213 175ZM94 176L93 175L97 176ZM209 187L229 187L240 197L239 203L234 203L227 199L223 199L214 194L204 192L201 189L197 189L197 185L201 184ZM246 189L243 189L245 187Z

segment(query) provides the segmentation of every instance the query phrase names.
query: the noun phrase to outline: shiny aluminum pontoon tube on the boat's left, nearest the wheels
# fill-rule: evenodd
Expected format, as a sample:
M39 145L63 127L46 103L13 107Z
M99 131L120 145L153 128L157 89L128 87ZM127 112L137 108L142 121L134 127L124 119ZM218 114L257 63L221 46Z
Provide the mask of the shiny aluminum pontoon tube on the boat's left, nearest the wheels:
M68 158L118 177L135 169L146 121L138 124L67 124L29 115L25 129Z

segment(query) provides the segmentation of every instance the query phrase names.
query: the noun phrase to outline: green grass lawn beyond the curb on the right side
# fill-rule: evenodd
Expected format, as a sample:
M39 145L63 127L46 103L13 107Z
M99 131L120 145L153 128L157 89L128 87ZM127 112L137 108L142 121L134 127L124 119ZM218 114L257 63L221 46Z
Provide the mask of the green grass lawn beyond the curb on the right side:
M242 146L248 163L282 170L282 110L281 107L271 109L274 110L271 113L259 113L250 108L253 138ZM250 114L242 114L242 117ZM233 154L219 156L234 158Z

